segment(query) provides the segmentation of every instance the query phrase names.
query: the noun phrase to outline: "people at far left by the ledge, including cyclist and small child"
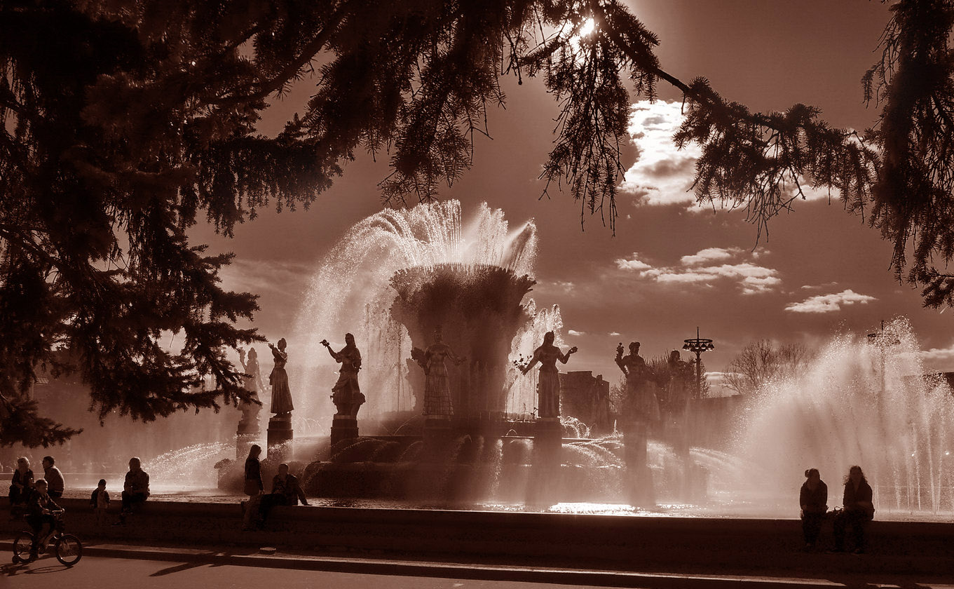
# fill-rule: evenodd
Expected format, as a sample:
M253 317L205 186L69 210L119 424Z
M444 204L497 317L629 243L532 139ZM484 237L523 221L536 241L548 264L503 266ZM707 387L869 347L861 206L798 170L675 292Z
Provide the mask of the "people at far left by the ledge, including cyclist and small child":
M43 477L34 478L30 468L30 459L20 456L16 460L16 470L10 480L10 519L26 515L37 541L40 531L45 524L49 525L49 533L55 526L54 511L62 508L55 503L55 499L63 496L66 481L63 473L56 467L56 460L52 456L43 457ZM119 519L113 525L121 526L126 523L126 516L131 514L135 507L141 505L149 497L149 474L142 470L142 463L135 456L129 460L129 472L123 480L121 494L122 507ZM102 524L105 521L106 511L110 505L110 494L106 490L106 479L99 479L99 483L90 495L90 506L96 514L96 521Z

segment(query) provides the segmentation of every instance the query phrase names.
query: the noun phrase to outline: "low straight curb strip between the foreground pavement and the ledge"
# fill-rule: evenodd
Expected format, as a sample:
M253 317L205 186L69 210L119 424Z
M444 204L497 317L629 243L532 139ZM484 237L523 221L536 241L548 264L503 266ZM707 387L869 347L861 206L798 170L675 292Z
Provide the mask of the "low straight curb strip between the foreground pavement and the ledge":
M0 541L0 549L10 551L11 540ZM193 562L212 566L255 566L275 569L309 570L332 573L357 573L401 577L463 578L472 580L508 580L517 582L591 585L604 587L645 587L648 589L753 588L753 589L833 589L850 584L839 580L816 578L766 578L716 575L678 575L666 573L631 573L619 571L584 571L552 567L520 567L487 564L421 562L381 558L316 557L309 555L230 554L228 551L200 550L184 547L156 547L100 544L83 547L90 557L132 558L167 562ZM81 565L80 565L81 566ZM853 578L856 582L860 579ZM870 579L865 579L870 582ZM910 582L908 579L907 582ZM887 583L889 586L891 583ZM899 583L904 586L905 583ZM921 584L924 587L954 585Z

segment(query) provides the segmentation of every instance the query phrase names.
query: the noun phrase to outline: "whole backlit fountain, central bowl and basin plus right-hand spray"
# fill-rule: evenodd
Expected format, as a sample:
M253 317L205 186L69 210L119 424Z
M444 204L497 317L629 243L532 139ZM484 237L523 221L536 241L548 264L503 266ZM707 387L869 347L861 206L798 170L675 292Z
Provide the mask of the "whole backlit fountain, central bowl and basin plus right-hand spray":
M511 231L485 204L465 223L456 201L382 211L346 232L317 270L290 338L303 350L289 374L301 391L295 427L306 434L295 444L311 440L310 455L294 452L302 465L311 461L301 477L309 494L502 509L557 503L558 511L587 502L603 507L580 509L641 513L626 505L633 473L619 433L587 439L563 415L556 468L534 447L535 380L518 378L513 364L562 326L557 308L524 302L535 247L531 221ZM453 411L446 434L428 443L424 378L411 352L431 345L439 326L466 361L447 365ZM919 376L917 343L903 321L887 330L897 344L840 334L800 374L734 401L740 419L724 446L701 441L712 403L692 404L680 430L695 436L688 445L685 435L667 441L671 432L651 428L636 476L652 481L653 513L797 515L808 467L821 470L835 506L854 463L868 473L881 515L954 510L950 389ZM361 348L367 400L362 435L331 446L327 395L336 374L321 340L337 338L338 348L345 332ZM701 484L687 489L693 476Z

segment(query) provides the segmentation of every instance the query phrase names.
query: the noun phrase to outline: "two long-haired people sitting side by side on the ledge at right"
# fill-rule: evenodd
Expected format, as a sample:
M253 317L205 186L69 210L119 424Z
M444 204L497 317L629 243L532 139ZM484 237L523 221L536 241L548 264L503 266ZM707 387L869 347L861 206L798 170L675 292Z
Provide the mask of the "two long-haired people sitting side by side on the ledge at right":
M805 471L805 482L801 485L798 503L801 506L801 531L805 537L805 550L815 550L821 526L826 519L832 519L835 536L835 548L832 552L845 551L845 533L850 527L855 540L855 554L864 553L864 529L875 516L872 502L871 485L864 478L860 466L848 470L844 479L840 509L828 511L828 486L821 480L818 469Z

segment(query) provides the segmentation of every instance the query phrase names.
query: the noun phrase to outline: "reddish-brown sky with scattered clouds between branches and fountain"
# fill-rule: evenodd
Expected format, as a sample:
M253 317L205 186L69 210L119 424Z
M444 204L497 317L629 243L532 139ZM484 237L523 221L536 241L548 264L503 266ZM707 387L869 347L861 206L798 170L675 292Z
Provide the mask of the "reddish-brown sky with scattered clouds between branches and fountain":
M861 100L860 79L880 54L888 10L879 2L646 0L631 7L659 36L662 68L683 81L705 76L753 110L800 102L840 127L863 130L877 120ZM314 84L305 79L274 100L261 132L273 135L302 112ZM743 211L696 207L686 191L696 152L672 144L681 96L665 83L654 103L633 96L615 236L598 217L587 215L581 228L570 196L550 190L540 198L556 105L538 79L521 86L507 79L503 88L506 109L488 113L491 137L476 138L472 168L441 197L461 200L465 217L487 201L511 227L536 222L537 284L529 296L538 306L560 305L565 345L579 347L566 369L614 382L617 343L639 341L644 356L658 356L698 327L716 345L703 357L706 367L720 371L759 339L817 347L840 331L870 332L903 315L920 338L924 368L954 370L951 313L923 309L919 291L889 268L890 244L845 212L837 195L810 193L758 240ZM310 210L260 211L234 239L206 226L192 232L194 242L237 254L223 282L260 295L253 325L269 340L292 331L308 280L334 243L381 210L376 184L385 164L386 156L358 158ZM336 335L328 339L340 341ZM293 357L294 347L289 341Z

